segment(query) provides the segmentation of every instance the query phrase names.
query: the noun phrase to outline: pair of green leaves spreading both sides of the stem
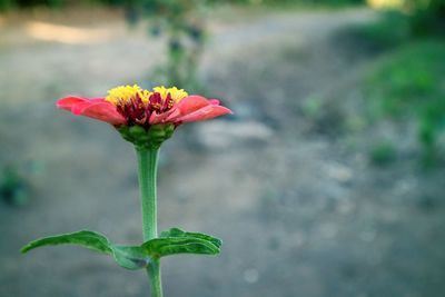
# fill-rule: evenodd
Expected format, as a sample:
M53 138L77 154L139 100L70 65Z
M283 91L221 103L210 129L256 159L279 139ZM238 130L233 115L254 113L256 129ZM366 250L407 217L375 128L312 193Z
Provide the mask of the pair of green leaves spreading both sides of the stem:
M146 241L141 246L112 245L101 234L81 230L72 234L63 234L40 238L29 242L21 249L28 253L42 246L77 245L110 255L116 263L127 269L140 269L147 267L150 259L177 254L217 255L220 251L221 240L205 234L186 232L178 228L171 228L161 232L159 238Z

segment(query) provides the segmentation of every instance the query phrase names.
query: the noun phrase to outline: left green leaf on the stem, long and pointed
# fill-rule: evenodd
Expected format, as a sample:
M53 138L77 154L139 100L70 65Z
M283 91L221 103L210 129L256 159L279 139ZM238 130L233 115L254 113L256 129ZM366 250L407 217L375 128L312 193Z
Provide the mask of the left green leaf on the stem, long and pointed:
M145 268L150 261L150 257L144 253L141 247L111 245L103 235L89 230L40 238L26 245L21 253L24 254L38 247L57 245L77 245L110 255L119 266L127 269Z

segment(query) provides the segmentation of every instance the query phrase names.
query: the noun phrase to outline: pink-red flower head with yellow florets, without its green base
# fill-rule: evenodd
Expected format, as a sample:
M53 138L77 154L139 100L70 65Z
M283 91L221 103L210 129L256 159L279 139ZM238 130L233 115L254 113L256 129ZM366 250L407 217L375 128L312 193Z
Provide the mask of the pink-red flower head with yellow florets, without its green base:
M216 99L189 96L176 87L156 87L148 91L137 85L113 88L105 98L66 97L57 102L57 107L116 127L138 125L149 128L162 123L177 127L231 113Z

